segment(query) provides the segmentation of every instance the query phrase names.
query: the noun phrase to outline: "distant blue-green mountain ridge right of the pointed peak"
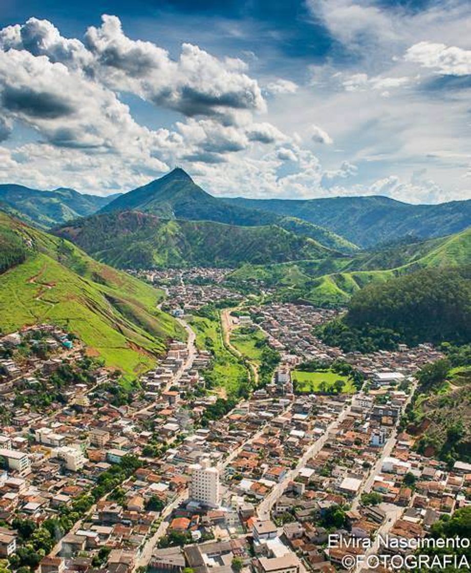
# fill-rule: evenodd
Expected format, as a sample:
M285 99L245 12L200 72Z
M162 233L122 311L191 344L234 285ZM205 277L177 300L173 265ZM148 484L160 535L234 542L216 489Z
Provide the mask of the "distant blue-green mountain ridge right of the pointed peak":
M296 217L321 225L368 247L414 234L422 238L458 233L471 222L471 199L439 205L410 205L388 197L324 199L225 199L228 205Z

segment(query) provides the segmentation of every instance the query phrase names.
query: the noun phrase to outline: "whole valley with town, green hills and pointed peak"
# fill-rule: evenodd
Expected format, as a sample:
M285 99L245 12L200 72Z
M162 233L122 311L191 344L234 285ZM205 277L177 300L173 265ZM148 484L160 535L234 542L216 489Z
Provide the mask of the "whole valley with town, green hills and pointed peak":
M317 571L352 552L328 531L424 537L466 509L469 228L361 249L181 170L127 195L47 231L0 212L17 573Z

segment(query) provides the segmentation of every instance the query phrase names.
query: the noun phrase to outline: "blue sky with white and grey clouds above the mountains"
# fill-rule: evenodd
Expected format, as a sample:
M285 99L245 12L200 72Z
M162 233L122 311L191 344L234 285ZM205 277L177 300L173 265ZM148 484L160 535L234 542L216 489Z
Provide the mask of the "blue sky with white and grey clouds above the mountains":
M471 198L469 0L0 0L0 183Z

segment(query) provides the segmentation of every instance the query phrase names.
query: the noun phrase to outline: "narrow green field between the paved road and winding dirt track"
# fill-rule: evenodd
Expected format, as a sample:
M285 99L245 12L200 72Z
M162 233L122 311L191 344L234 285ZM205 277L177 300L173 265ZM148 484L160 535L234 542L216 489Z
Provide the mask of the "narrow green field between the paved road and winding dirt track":
M193 316L190 324L196 333L196 346L201 350L209 350L214 355L213 382L223 387L228 396L237 395L241 385L247 381L247 370L225 348L220 321Z

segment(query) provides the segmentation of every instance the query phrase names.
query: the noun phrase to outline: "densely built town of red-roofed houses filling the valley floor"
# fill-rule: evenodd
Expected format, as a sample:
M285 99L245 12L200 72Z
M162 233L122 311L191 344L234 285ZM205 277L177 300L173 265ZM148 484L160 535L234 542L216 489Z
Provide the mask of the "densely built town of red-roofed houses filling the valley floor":
M223 277L191 269L169 284L166 304L190 332L191 312L228 300ZM270 383L240 399L206 387L215 357L194 336L169 342L138 380L65 328L1 337L3 558L41 573L330 573L345 555L378 552L379 536L421 538L469 503L471 466L419 454L400 428L414 373L441 356L430 344L349 354L313 332L338 311L246 312L233 320L260 329L280 360ZM361 382L353 393L302 390L295 375L312 360ZM352 549L351 539L376 545Z

